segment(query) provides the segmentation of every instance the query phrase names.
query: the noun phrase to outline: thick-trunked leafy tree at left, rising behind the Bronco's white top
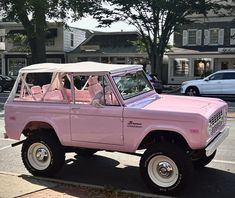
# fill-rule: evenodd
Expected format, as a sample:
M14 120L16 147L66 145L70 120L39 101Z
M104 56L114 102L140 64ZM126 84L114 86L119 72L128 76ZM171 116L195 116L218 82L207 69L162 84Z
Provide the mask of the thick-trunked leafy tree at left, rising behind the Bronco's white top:
M1 0L0 13L8 21L22 23L32 63L46 61L47 21L80 19L99 6L100 0Z

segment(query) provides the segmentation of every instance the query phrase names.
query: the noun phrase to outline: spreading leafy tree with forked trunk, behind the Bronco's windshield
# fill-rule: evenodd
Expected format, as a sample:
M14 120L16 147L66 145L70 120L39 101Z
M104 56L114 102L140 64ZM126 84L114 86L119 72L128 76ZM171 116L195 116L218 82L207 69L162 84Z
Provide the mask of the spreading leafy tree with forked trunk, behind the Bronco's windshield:
M94 18L100 26L124 21L139 31L151 62L151 72L162 77L163 54L175 27L191 22L191 14L207 15L227 8L222 1L212 0L105 0ZM218 3L220 2L220 3ZM226 0L224 1L226 2Z

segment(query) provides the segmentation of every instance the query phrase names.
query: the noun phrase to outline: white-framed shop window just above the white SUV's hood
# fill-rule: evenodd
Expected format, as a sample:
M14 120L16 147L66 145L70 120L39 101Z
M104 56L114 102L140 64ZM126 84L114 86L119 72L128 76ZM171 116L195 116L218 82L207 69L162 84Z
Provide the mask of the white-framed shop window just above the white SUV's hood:
M174 76L188 76L189 74L189 60L175 59L174 60Z

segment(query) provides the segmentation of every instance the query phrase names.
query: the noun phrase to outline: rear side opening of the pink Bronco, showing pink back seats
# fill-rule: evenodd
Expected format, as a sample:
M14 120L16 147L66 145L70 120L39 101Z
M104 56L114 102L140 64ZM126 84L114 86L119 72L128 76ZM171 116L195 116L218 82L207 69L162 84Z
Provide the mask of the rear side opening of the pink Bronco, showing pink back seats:
M62 73L23 74L14 100L53 103L71 102L69 98L71 89L65 88L65 78L69 79L70 77L68 74Z

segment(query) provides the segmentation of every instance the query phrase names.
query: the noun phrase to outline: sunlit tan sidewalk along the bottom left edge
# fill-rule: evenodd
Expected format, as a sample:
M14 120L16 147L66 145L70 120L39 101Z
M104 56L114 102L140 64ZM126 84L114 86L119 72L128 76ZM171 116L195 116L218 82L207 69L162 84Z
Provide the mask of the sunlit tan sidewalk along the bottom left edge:
M166 196L131 191L119 191L107 187L79 184L57 179L0 172L1 198L160 198Z

